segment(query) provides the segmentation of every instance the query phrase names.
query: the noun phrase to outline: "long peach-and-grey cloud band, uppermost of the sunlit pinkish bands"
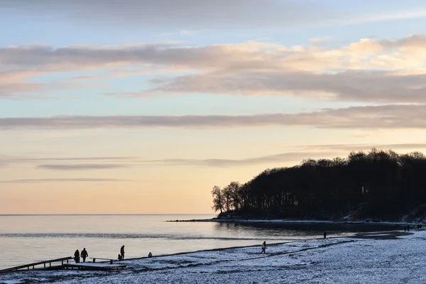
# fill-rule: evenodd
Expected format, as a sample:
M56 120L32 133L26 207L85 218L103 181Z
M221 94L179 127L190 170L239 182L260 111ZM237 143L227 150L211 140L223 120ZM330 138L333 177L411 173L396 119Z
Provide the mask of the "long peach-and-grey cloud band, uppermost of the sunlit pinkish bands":
M0 48L0 64L3 68L9 68L6 72L11 72L9 77L14 76L15 79L29 77L31 73L38 75L43 72L102 70L124 65L281 72L377 68L395 70L422 66L423 62L419 60L426 58L421 53L425 46L425 35L409 35L395 40L364 38L349 45L334 47L324 47L312 41L305 46L253 41L198 47L176 42L70 45L62 48L21 45ZM391 53L395 48L402 49L402 52ZM411 50L406 50L408 48ZM413 53L413 48L416 53ZM384 51L389 53L383 54ZM132 72L143 72L142 70L133 68Z

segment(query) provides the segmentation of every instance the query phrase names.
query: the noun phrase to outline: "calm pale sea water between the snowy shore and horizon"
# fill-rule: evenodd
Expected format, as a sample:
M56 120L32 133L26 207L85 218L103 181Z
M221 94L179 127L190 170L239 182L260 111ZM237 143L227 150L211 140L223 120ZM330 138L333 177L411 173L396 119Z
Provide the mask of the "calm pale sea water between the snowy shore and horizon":
M72 256L84 247L89 257L126 258L342 236L376 227L166 222L213 215L0 215L0 269Z

